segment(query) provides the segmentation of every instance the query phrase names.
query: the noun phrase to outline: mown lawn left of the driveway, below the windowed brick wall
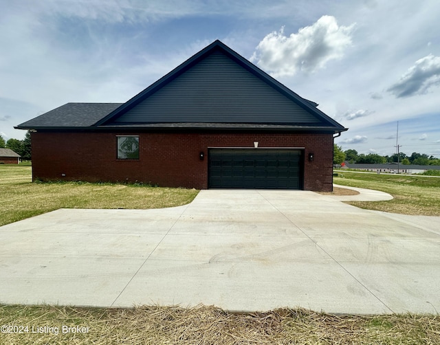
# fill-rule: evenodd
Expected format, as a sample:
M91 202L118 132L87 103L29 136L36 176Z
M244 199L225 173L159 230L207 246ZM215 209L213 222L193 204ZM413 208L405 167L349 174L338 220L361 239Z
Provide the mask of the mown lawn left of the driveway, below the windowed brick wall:
M0 165L0 226L58 208L167 208L197 190L114 183L32 183L30 165Z

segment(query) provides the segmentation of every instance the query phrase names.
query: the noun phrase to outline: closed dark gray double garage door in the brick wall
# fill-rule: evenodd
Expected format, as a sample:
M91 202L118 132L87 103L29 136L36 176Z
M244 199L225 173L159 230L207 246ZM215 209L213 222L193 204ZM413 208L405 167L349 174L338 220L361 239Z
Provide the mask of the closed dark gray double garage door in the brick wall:
M211 148L208 188L303 188L303 151L287 148Z

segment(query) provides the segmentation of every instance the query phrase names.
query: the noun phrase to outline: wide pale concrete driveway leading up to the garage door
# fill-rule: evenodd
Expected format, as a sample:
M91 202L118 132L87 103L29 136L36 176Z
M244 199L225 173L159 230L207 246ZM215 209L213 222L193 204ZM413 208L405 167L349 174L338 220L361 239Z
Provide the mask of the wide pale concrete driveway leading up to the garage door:
M0 227L0 302L231 311L440 311L440 217L298 190L202 190L162 210L56 210Z

